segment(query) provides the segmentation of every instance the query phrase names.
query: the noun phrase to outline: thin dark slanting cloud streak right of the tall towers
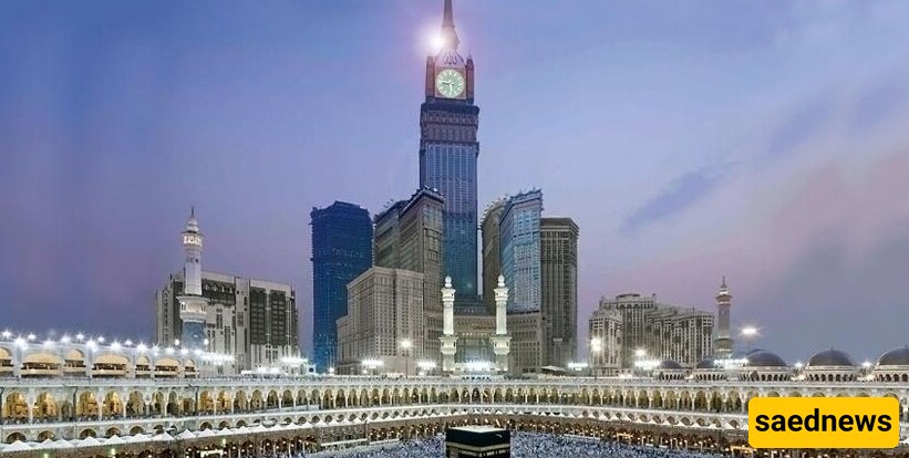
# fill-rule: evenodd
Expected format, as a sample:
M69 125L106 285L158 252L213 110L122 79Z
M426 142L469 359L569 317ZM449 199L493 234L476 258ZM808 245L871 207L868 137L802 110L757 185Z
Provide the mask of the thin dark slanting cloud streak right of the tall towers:
M698 204L723 180L732 164L712 164L673 180L657 197L634 210L622 225L622 232L636 232Z

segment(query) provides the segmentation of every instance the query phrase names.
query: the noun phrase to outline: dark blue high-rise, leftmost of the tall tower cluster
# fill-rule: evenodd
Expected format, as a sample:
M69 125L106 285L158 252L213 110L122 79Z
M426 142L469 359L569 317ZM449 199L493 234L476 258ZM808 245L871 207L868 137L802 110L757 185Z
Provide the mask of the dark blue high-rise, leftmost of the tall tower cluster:
M317 371L334 366L335 322L348 313L348 283L372 266L372 221L366 209L335 201L313 208L312 314Z

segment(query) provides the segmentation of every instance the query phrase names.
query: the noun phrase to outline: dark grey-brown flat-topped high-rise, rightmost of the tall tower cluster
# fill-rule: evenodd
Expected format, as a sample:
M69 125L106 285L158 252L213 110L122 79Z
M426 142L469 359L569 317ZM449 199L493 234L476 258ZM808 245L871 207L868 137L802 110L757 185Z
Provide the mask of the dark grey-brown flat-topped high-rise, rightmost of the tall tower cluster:
M541 311L546 365L567 367L578 350L578 225L540 219Z

